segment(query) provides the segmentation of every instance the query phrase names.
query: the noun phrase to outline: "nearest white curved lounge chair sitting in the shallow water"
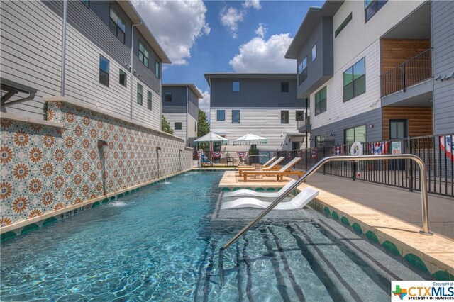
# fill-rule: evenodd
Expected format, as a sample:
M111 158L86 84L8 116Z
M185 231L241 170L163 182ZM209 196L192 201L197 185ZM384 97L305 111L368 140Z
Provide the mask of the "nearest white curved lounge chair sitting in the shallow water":
M273 210L297 210L306 206L309 201L316 198L319 195L319 190L307 187L303 191L299 192L297 196L294 196L291 201L279 203ZM221 210L233 209L233 208L267 208L270 206L270 202L260 201L256 198L238 198L235 201L226 201L221 204Z

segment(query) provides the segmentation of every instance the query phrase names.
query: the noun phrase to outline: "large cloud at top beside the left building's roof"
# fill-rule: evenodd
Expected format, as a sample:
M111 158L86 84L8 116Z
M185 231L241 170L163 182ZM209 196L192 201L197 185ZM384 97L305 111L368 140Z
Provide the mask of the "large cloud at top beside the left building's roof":
M201 0L133 0L133 5L174 65L187 65L196 38L210 33Z

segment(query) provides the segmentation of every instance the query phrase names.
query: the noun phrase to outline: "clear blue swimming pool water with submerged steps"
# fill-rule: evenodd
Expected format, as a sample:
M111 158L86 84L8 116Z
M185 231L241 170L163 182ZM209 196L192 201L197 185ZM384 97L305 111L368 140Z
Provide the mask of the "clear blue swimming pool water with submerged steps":
M1 244L1 300L389 299L391 279L430 279L310 208L217 250L254 210L221 213L222 172L189 172ZM238 216L238 213L242 213Z

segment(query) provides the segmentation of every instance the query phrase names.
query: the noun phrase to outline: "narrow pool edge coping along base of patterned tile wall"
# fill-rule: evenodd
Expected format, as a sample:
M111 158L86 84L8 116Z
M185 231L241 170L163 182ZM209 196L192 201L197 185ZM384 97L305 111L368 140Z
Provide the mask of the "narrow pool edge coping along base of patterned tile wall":
M90 208L94 208L94 204L95 203L99 203L100 201L101 201L101 203L105 203L107 201L112 201L115 198L124 196L126 194L133 193L133 191L137 191L138 189L141 189L144 186L150 186L151 184L155 184L157 182L163 181L165 179L169 179L171 177L175 177L175 176L177 176L179 174L190 172L192 170L194 170L194 169L191 168L191 169L183 170L181 172L169 174L166 177L160 177L158 179L153 179L152 181L147 181L147 182L144 182L142 184L138 184L138 185L135 185L135 186L129 186L126 189L121 189L120 191L115 191L115 192L110 193L110 194L101 195L101 196L98 196L96 198L92 198L92 199L89 199L87 201L84 201L82 203L77 203L77 204L74 204L72 206L67 206L65 208L61 208L61 209L59 209L57 211L52 211L52 212L49 212L49 213L45 213L45 214L43 214L41 216L28 218L26 220L21 220L18 223L13 223L11 225L6 225L6 226L0 228L0 235L4 235L4 234L9 233L9 232L15 233L15 235L21 235L24 230L28 231L28 230L33 230L35 228L39 228L39 227L45 225L46 221L48 221L48 220L50 222L55 222L57 220L62 220L64 218L73 216L73 215L75 215L75 214L77 214L79 212L89 210ZM35 227L31 228L32 225L35 225ZM27 227L29 227L29 229ZM12 235L11 237L15 237L15 236ZM10 239L10 237L3 237L2 236L0 241L4 242L4 241L9 240L9 239Z

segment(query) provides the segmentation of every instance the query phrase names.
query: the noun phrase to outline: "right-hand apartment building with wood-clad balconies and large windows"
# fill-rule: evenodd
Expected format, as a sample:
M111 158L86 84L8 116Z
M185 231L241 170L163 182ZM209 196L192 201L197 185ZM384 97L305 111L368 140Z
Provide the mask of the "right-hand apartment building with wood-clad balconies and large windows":
M454 133L453 1L326 1L287 50L316 142Z

